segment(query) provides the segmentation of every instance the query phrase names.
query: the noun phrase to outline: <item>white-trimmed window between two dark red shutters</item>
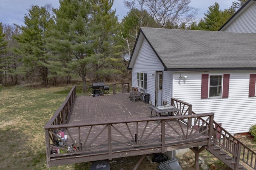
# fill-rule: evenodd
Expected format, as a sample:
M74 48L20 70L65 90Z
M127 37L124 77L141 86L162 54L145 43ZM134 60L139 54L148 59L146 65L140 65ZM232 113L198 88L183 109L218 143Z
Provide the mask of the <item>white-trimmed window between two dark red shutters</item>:
M222 94L222 76L210 76L209 97L221 97Z

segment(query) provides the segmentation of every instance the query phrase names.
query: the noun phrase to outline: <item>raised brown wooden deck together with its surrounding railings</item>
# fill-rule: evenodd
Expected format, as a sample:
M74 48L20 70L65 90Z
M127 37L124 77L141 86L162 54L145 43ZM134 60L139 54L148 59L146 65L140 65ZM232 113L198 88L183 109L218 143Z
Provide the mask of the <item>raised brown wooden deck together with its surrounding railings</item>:
M45 126L49 167L210 144L204 134L211 133L212 127L206 124L212 124L213 113L190 115L191 106L176 100L172 105L180 109L178 115L151 117L150 104L132 102L130 93L74 97L74 92ZM202 121L201 117L208 119ZM200 131L204 125L206 129ZM67 141L58 138L58 129L65 130ZM66 147L54 144L58 140ZM73 148L76 143L82 147ZM52 154L52 149L64 152Z

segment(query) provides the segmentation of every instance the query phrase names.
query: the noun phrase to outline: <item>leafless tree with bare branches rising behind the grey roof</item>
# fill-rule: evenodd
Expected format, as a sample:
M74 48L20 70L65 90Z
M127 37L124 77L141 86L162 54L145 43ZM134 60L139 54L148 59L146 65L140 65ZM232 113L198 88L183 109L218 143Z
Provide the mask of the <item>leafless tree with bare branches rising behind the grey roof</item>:
M189 6L191 0L124 0L132 10L146 10L162 28L171 25L187 24L196 19L198 8Z

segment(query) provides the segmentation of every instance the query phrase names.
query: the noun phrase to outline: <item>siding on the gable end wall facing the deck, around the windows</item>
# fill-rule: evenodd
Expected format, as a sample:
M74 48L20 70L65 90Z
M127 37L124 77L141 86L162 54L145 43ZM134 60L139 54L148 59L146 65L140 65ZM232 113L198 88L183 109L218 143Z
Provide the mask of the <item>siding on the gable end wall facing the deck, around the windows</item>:
M143 72L147 73L147 89L146 93L150 94L149 100L152 101L152 104L155 104L156 96L156 71L164 70L164 66L159 61L158 57L146 41L143 39L140 50L136 57L136 61L132 67L132 86L137 86L137 73ZM151 74L154 73L154 76Z

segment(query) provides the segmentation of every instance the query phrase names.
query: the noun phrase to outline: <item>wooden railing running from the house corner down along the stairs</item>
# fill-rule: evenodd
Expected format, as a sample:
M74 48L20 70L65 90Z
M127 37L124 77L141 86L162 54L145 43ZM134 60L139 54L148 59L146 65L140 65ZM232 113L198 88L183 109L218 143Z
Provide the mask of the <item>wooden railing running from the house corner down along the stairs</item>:
M192 105L181 100L172 98L172 106L180 109L180 112L176 112L176 115L191 115L196 114L192 111ZM199 128L200 132L208 135L209 133L209 124L205 122L207 117L200 117L197 120L186 120L189 124L194 125ZM204 123L205 122L205 123ZM191 124L190 124L191 123ZM223 150L227 151L236 162L236 165L239 164L239 161L248 164L253 169L256 169L256 152L246 147L242 142L236 139L233 135L228 133L223 129L218 123L213 121L213 133L212 134L212 143L218 145Z

